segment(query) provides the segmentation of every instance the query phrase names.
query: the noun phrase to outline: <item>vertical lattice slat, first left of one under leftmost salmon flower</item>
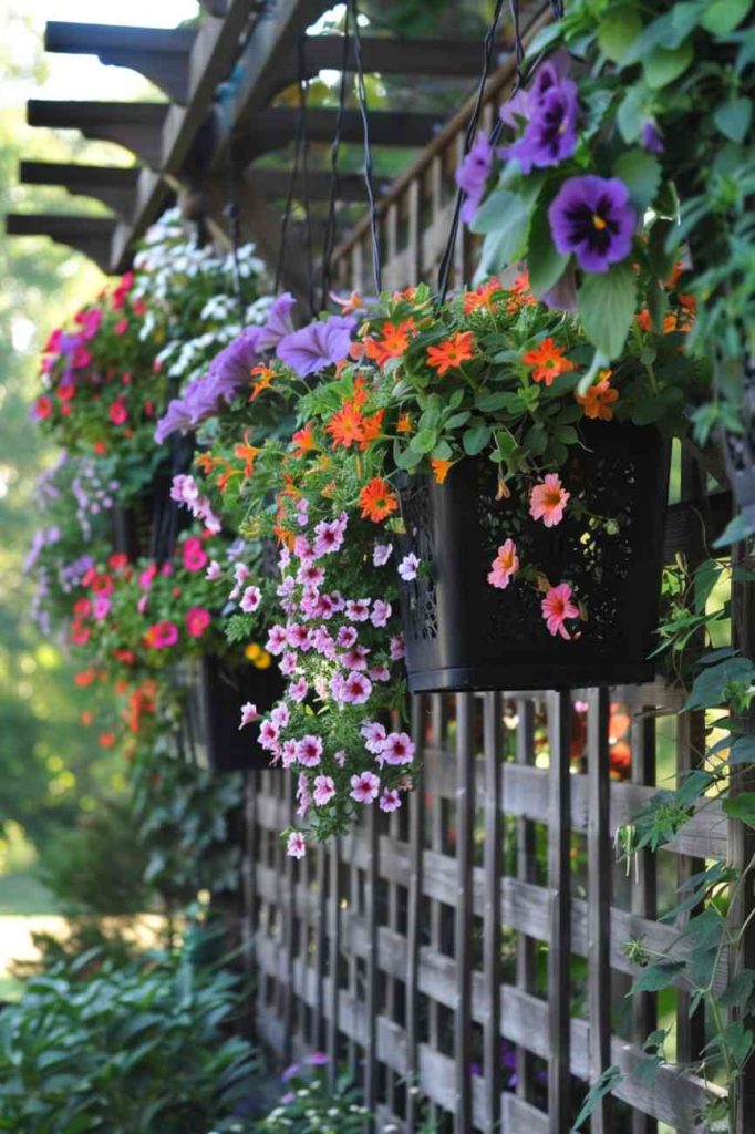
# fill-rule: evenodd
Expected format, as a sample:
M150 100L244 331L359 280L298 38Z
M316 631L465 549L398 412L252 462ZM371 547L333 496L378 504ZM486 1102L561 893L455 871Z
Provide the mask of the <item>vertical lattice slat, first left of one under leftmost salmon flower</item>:
M456 1005L455 1005L455 1106L457 1129L472 1126L472 868L475 820L474 704L469 693L456 697Z

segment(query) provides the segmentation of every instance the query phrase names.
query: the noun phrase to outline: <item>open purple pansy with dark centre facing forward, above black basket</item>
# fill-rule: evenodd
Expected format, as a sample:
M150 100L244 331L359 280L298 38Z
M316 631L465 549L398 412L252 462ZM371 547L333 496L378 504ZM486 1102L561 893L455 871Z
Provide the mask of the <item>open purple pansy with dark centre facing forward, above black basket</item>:
M606 272L631 249L637 213L618 177L570 177L548 210L553 244L586 272Z

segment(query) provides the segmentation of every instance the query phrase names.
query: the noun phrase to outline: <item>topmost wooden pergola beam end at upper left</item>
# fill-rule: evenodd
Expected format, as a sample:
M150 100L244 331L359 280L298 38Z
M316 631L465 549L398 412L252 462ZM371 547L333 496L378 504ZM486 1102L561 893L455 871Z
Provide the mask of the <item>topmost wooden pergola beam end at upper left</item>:
M129 67L154 83L172 102L185 103L194 28L121 27L50 20L44 34L48 51L93 54L101 62Z

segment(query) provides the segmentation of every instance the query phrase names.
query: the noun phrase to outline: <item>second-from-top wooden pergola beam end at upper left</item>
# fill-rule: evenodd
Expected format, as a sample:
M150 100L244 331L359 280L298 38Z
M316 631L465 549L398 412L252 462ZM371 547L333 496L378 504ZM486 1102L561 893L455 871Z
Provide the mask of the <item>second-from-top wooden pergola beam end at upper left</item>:
M84 137L114 142L147 164L160 160L160 134L168 104L163 102L71 102L31 99L29 126L80 130Z

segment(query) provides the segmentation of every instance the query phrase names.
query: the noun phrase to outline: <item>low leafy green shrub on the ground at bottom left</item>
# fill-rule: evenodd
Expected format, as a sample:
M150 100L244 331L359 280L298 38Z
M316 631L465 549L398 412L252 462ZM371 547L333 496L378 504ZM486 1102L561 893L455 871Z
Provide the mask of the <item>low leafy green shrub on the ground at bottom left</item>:
M91 957L29 980L0 1016L0 1129L14 1134L205 1134L249 1089L229 1038L235 979L185 956L104 966Z

